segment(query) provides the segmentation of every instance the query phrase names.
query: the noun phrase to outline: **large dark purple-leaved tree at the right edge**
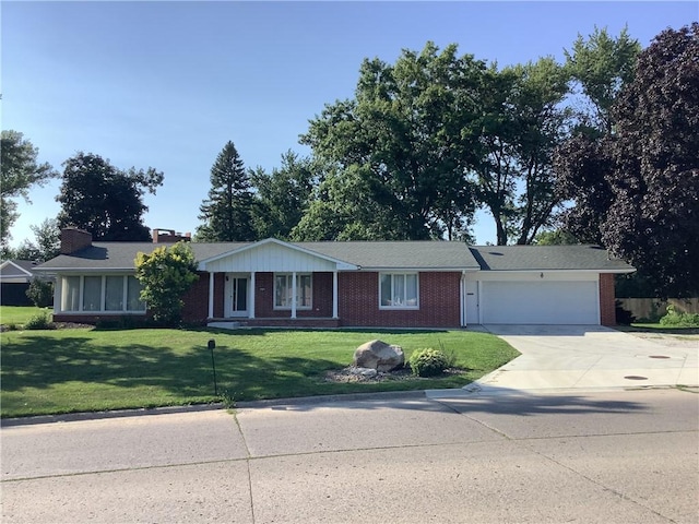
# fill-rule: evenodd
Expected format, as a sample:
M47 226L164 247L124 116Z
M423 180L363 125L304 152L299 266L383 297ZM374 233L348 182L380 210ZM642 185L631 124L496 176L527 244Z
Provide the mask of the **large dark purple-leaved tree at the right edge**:
M699 24L661 33L612 106L615 130L559 152L567 216L651 279L660 296L699 290Z

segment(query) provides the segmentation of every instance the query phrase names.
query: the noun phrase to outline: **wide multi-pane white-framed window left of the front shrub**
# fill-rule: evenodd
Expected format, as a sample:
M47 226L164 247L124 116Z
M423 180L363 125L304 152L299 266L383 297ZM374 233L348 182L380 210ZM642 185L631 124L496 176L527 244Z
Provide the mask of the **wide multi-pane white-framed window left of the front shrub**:
M132 275L85 275L61 278L61 311L144 313L141 283Z

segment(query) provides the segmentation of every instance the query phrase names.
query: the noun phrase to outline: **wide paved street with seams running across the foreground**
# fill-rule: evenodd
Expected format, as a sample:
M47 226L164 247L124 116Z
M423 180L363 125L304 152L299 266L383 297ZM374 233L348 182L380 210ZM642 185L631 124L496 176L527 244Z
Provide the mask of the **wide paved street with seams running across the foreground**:
M4 426L2 522L699 522L699 395L398 395Z

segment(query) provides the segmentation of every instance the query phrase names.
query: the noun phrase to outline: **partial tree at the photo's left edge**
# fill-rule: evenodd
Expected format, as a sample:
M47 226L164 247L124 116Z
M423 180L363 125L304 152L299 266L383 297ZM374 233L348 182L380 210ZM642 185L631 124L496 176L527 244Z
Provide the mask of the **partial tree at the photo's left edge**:
M37 162L38 148L17 131L2 131L0 143L0 243L3 249L10 239L10 228L19 217L16 202L29 200L29 188L42 186L57 176L54 168Z

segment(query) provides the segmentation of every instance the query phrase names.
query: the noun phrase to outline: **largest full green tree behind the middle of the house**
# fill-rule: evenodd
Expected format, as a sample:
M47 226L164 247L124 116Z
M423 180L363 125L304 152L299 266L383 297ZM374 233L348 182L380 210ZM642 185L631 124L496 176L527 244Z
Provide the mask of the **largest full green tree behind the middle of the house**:
M465 231L484 68L453 45L439 51L431 43L419 53L404 50L394 64L365 60L355 98L325 106L301 138L331 175L297 234L425 239ZM340 216L330 224L333 209Z

